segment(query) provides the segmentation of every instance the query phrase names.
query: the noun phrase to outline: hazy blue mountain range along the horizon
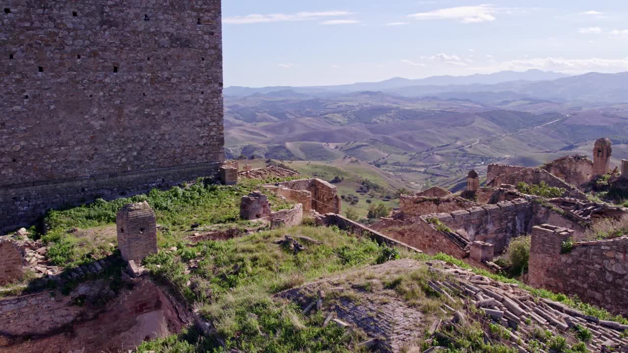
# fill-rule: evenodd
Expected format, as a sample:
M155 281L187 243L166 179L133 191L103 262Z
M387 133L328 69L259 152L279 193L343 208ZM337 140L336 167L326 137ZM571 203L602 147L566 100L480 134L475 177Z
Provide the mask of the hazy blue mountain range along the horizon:
M585 73L569 76L558 72L528 70L502 71L469 76L434 76L426 79L400 77L382 82L316 87L227 87L224 94L231 97L267 95L276 98L332 97L352 92L374 91L404 97L440 95L447 99L473 99L479 94L486 99L525 95L533 99L556 102L628 102L628 72Z

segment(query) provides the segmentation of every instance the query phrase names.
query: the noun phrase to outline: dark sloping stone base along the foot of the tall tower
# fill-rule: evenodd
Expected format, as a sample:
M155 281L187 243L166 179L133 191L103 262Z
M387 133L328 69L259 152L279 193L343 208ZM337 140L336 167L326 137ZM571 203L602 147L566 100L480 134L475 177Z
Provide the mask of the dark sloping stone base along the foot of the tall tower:
M139 172L92 175L0 187L0 234L29 227L48 209L114 200L170 188L199 176L215 178L219 163L160 168Z

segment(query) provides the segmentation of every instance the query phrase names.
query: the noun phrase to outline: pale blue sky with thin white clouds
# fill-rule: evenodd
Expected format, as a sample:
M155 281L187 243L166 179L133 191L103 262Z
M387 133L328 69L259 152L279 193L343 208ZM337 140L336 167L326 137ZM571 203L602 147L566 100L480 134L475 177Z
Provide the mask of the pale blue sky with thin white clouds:
M224 0L225 85L628 70L628 0Z

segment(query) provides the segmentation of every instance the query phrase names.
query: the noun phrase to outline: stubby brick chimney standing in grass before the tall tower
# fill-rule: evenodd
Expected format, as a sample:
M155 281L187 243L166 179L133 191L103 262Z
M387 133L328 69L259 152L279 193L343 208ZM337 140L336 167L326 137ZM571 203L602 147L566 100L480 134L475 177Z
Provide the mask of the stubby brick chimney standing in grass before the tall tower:
M157 223L148 202L124 205L117 213L116 226L124 261L139 264L148 254L157 252Z

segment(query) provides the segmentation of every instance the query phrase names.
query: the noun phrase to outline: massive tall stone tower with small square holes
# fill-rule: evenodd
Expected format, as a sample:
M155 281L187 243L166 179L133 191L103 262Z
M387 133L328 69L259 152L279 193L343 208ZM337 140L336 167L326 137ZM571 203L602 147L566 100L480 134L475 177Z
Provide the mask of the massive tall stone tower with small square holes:
M3 7L0 231L217 171L219 0Z

